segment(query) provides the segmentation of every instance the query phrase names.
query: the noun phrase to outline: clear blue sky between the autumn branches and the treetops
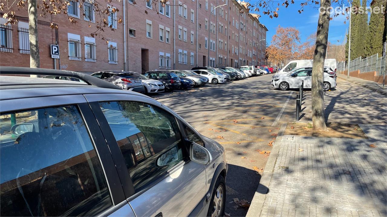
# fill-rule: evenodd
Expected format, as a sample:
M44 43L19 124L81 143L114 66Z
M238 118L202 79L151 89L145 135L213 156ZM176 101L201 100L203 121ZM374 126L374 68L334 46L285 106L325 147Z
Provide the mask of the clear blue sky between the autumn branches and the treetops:
M250 3L254 3L252 0ZM296 27L300 31L301 42L312 33L317 31L317 20L319 18L318 9L312 8L310 6L304 7L304 11L299 14L301 1L295 1L295 4L289 5L288 8L283 6L279 7L278 17L270 19L269 16L264 15L261 12L255 12L260 14L262 17L259 18L259 21L264 24L269 31L266 32L267 43L270 44L271 37L276 33L276 28L278 25L281 27ZM254 12L253 12L254 13ZM343 44L345 43L346 31L348 31L348 21L344 24L346 16L340 15L334 17L333 20L330 20L329 23L329 35L328 40L332 44ZM337 42L339 40L339 42Z

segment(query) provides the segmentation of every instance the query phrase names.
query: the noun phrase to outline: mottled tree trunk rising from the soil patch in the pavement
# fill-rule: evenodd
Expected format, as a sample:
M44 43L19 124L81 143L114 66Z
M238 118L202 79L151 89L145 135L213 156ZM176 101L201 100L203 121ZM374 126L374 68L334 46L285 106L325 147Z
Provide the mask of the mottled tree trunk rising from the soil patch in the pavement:
M330 0L322 0L320 3L319 22L317 24L316 47L313 56L312 69L312 120L313 129L327 130L324 117L324 61L327 51ZM327 10L328 9L328 10Z

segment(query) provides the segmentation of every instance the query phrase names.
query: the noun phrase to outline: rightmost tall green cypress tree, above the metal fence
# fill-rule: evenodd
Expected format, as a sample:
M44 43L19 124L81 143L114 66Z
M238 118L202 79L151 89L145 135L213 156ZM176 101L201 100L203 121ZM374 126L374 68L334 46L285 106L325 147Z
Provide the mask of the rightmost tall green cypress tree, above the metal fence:
M382 56L383 52L383 39L385 30L385 16L386 16L386 0L375 0L375 3L371 5L372 10L379 7L378 13L372 12L370 15L370 23L368 24L368 34L366 36L366 42L368 44L367 53L369 55L379 54Z

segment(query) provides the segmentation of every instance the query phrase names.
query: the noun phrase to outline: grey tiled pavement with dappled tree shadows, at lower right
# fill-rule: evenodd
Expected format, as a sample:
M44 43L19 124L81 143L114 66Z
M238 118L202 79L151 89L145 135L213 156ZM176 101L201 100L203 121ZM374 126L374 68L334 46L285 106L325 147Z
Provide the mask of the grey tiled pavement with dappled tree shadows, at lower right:
M260 216L386 216L387 128L360 127L369 139L283 136Z

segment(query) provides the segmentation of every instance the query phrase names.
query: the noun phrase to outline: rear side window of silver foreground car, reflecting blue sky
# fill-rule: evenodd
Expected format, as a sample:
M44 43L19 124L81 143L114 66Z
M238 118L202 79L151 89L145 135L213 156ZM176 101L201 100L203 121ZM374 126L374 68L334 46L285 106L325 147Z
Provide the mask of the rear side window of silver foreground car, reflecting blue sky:
M113 205L75 105L1 114L0 215L94 216Z

